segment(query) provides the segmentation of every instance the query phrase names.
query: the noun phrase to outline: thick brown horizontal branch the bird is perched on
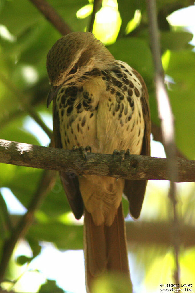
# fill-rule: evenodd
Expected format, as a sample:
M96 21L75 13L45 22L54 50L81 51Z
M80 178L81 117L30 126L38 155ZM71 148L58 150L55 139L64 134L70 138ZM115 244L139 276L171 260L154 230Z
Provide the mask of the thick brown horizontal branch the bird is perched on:
M170 180L167 159L126 155L120 166L118 155L113 158L110 154L88 153L86 161L79 150L39 147L7 140L0 140L0 162L49 170L65 170L71 176L75 173L133 180ZM177 167L177 182L195 182L195 161L177 158Z

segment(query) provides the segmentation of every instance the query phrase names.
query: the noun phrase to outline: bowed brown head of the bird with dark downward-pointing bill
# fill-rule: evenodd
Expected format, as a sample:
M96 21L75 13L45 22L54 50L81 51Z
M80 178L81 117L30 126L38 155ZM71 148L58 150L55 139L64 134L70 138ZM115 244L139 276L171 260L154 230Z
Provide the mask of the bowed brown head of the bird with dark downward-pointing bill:
M79 86L86 72L109 69L114 57L92 33L69 33L60 38L47 54L51 84L47 105L61 86Z

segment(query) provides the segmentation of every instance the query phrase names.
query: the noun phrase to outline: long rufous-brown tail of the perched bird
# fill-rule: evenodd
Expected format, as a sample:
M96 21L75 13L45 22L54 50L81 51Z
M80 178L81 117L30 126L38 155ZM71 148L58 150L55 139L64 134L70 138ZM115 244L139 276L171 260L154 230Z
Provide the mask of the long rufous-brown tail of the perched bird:
M122 204L111 226L95 226L85 209L84 256L87 293L91 292L94 280L106 272L121 273L130 278Z

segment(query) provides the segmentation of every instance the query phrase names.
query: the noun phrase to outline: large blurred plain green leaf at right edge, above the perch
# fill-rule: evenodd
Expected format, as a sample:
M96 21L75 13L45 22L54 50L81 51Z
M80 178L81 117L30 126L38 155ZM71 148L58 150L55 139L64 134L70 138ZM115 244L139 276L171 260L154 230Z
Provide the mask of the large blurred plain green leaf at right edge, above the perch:
M195 159L195 55L192 51L171 52L166 74L174 79L169 97L175 117L176 142L179 149Z

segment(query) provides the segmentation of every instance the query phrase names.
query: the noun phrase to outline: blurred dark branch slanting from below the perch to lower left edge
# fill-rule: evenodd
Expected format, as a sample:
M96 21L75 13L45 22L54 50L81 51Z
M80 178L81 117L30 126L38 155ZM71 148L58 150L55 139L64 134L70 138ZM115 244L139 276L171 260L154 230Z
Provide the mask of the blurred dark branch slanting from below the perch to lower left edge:
M29 229L30 225L33 222L34 212L37 210L37 208L43 201L48 190L52 188L52 185L55 182L54 179L55 179L54 171L45 170L43 172L37 191L32 197L31 203L28 207L28 211L20 219L20 222L17 224L17 226L13 229L11 237L4 242L4 246L2 249L2 258L0 262L0 283L3 281L4 274L5 274L9 259L12 255L13 249L15 247L15 244L17 243L20 237L24 236L27 233L27 230Z

